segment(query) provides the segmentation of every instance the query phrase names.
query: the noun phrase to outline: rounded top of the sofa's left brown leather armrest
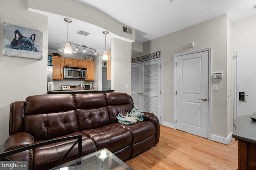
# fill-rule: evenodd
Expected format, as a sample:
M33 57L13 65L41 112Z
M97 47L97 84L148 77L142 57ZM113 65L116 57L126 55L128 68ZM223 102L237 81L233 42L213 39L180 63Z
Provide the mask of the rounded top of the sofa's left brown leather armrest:
M3 151L13 150L16 148L33 145L34 137L26 132L14 133L4 143Z

